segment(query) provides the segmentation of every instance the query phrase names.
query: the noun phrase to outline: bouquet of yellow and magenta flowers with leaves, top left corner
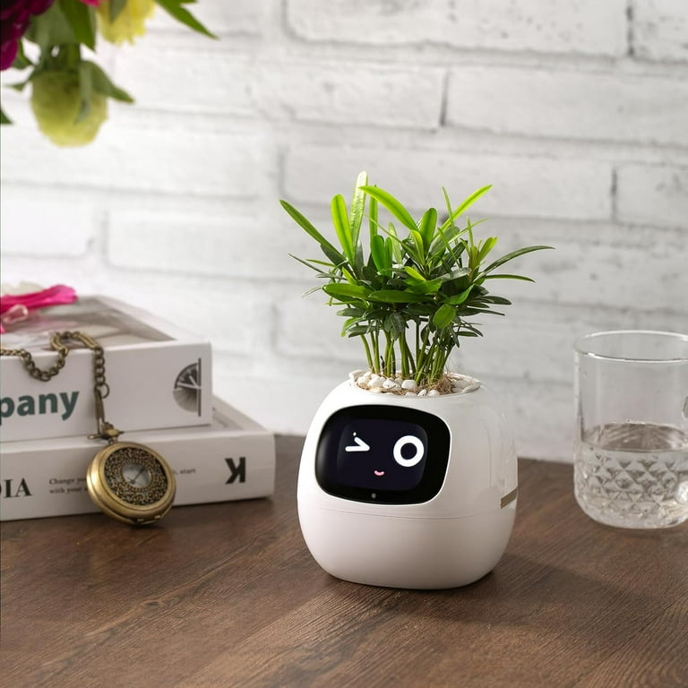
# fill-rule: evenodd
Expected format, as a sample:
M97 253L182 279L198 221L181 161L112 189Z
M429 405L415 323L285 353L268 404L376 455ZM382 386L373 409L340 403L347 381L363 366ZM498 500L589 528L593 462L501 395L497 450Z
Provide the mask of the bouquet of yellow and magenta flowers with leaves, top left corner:
M215 38L186 8L195 0L3 0L0 69L29 70L16 90L30 86L39 129L58 146L91 142L107 119L107 99L132 103L83 48L100 37L119 45L145 33L159 4L178 22ZM30 44L33 44L32 46ZM0 109L2 124L11 124Z

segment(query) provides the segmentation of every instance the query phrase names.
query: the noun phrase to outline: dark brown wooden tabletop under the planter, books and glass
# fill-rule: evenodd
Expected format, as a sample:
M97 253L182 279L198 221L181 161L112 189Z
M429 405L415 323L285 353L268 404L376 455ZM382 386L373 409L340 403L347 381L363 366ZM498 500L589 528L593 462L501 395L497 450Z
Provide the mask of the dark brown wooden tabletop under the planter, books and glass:
M688 527L589 520L572 467L520 461L510 546L466 588L331 578L301 538L302 441L271 499L2 526L7 688L688 685Z

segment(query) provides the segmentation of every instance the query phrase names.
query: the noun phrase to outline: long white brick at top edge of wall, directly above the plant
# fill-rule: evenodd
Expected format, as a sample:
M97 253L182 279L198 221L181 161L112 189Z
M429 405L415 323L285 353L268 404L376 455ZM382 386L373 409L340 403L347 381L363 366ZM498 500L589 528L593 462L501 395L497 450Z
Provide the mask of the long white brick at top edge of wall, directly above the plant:
M486 50L621 56L626 51L624 0L494 0L327 4L288 0L289 27L299 38L374 46L447 45Z

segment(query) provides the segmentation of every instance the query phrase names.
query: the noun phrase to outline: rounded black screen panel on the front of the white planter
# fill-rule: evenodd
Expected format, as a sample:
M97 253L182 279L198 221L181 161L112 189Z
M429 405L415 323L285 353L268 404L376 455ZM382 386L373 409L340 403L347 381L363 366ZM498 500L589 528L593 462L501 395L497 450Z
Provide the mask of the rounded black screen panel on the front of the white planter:
M359 502L426 502L443 485L449 449L449 428L425 411L340 409L323 427L315 477L330 495Z

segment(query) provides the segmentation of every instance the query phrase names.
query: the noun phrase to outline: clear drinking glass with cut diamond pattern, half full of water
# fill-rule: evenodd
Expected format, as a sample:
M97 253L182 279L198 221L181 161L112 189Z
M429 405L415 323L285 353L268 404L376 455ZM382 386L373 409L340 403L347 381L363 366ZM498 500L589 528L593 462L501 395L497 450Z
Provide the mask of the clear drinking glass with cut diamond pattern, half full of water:
M621 528L688 520L688 335L597 332L575 358L581 509Z

